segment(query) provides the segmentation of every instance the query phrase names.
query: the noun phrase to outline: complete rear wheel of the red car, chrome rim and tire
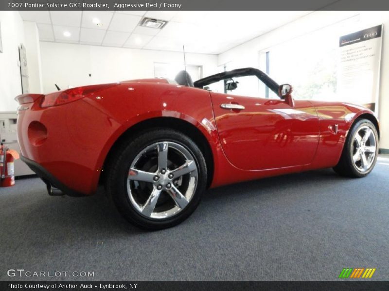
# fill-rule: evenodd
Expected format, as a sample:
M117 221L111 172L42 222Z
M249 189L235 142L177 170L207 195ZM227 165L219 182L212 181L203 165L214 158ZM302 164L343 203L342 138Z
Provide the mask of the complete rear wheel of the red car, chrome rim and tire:
M142 228L175 226L200 202L207 167L185 134L153 129L125 142L108 165L106 189L124 217Z

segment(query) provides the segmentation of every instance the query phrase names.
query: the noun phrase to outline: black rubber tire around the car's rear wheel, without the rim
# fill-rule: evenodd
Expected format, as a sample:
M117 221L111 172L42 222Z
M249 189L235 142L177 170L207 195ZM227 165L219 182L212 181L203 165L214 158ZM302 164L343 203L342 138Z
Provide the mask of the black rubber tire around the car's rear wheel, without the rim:
M131 203L127 193L128 170L131 163L147 146L158 142L173 142L187 149L194 157L197 166L197 185L191 200L185 208L169 218L154 219L141 215ZM174 129L154 128L122 143L111 156L107 165L106 191L111 196L119 212L135 226L157 230L176 226L187 219L197 208L207 185L207 166L203 153L195 142L182 132ZM158 198L159 199L159 198Z

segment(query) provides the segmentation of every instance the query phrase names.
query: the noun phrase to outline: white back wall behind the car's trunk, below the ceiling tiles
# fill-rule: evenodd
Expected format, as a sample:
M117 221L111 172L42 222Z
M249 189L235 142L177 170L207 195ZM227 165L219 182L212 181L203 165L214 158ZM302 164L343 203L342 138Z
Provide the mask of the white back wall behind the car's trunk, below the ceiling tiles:
M65 89L68 86L154 78L155 62L183 64L180 52L52 42L40 42L40 48L44 93L56 91L54 84ZM217 71L216 55L187 53L186 63L202 65L204 76Z

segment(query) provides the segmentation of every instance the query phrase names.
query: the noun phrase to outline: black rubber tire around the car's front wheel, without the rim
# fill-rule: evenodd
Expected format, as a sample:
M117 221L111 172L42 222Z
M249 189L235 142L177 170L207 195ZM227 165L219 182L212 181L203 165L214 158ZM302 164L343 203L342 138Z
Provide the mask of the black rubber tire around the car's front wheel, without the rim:
M371 166L366 171L361 171L353 161L353 151L355 151L354 145L354 137L355 134L362 129L363 127L369 127L371 129L371 133L375 138L375 155L372 160ZM346 142L343 147L342 154L340 156L340 160L337 165L333 168L336 173L341 176L350 177L350 178L362 178L367 176L372 169L374 168L375 163L377 162L378 156L378 133L374 124L368 119L359 119L352 125L349 130Z

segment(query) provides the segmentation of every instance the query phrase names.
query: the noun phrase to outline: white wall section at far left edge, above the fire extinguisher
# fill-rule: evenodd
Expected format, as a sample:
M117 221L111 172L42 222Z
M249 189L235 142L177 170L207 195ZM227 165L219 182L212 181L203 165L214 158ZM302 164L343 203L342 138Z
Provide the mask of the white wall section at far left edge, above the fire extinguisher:
M23 20L18 11L0 11L0 25L0 112L16 111L18 103L14 98L21 94L18 46L24 43Z

